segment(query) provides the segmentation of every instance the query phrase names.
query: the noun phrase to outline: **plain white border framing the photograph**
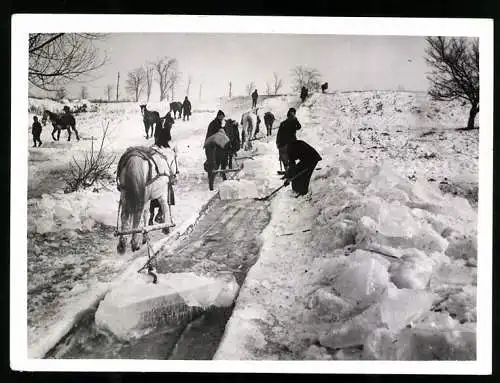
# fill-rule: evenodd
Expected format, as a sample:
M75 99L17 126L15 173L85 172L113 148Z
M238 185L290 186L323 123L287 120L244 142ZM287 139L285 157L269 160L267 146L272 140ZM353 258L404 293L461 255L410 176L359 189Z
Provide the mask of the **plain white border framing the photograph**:
M162 361L29 359L27 351L28 34L259 33L467 36L480 39L476 361ZM10 365L21 371L491 374L493 20L381 17L15 14L12 16ZM25 160L19 160L25 159Z

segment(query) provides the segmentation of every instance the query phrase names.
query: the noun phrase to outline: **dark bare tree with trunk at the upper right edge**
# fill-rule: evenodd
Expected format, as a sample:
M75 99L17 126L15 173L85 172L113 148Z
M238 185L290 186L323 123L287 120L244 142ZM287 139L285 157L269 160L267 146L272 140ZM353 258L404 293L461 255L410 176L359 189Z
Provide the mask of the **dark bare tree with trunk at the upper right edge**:
M470 103L467 129L479 113L479 39L427 37L426 62L432 68L429 95L435 100Z

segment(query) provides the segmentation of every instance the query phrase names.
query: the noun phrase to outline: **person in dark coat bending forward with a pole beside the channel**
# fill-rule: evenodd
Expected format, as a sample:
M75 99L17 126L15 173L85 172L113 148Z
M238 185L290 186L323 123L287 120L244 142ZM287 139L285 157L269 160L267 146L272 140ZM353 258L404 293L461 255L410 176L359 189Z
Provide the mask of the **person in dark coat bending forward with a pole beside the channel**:
M295 140L287 145L287 156L289 166L285 173L285 183L288 184L289 179L303 172L292 181L292 189L297 193L297 197L306 195L312 173L322 158L316 149L302 140Z

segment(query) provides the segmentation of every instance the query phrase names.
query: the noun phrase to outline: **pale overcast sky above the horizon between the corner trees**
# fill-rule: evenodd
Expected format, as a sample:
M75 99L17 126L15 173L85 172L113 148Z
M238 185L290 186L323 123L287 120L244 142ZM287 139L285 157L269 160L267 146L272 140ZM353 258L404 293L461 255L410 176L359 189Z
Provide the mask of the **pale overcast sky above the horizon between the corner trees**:
M205 99L227 96L229 81L233 95L245 94L250 81L265 94L273 72L283 78L281 92L290 92L290 71L297 65L319 70L330 91L398 87L425 91L425 45L424 37L404 36L114 33L99 43L107 51L108 64L85 85L89 98L106 98L106 85L116 89L120 72L120 94L124 95L130 70L168 56L178 60L182 73L175 91L179 100L186 95L189 75L192 100L198 99L200 83ZM78 97L81 87L82 83L73 83L66 88L70 97ZM158 99L158 85L154 84L152 100Z

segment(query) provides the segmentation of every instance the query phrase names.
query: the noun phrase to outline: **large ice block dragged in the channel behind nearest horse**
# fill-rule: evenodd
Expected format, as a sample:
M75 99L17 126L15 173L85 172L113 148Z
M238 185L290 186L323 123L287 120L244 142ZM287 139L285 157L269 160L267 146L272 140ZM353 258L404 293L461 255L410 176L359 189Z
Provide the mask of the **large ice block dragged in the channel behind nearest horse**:
M194 308L227 307L238 293L232 274L135 274L106 295L95 315L97 326L121 339L144 336L158 326L179 326Z

